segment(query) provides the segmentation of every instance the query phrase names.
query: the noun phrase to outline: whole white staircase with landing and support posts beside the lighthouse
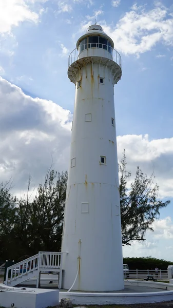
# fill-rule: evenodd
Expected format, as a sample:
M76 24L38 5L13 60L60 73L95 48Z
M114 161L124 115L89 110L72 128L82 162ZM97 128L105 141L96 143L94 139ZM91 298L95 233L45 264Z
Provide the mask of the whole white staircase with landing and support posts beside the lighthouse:
M62 253L39 252L39 254L7 267L4 284L15 286L22 282L37 277L36 287L40 284L41 272L59 273L59 288L62 284ZM10 275L10 278L8 276Z

